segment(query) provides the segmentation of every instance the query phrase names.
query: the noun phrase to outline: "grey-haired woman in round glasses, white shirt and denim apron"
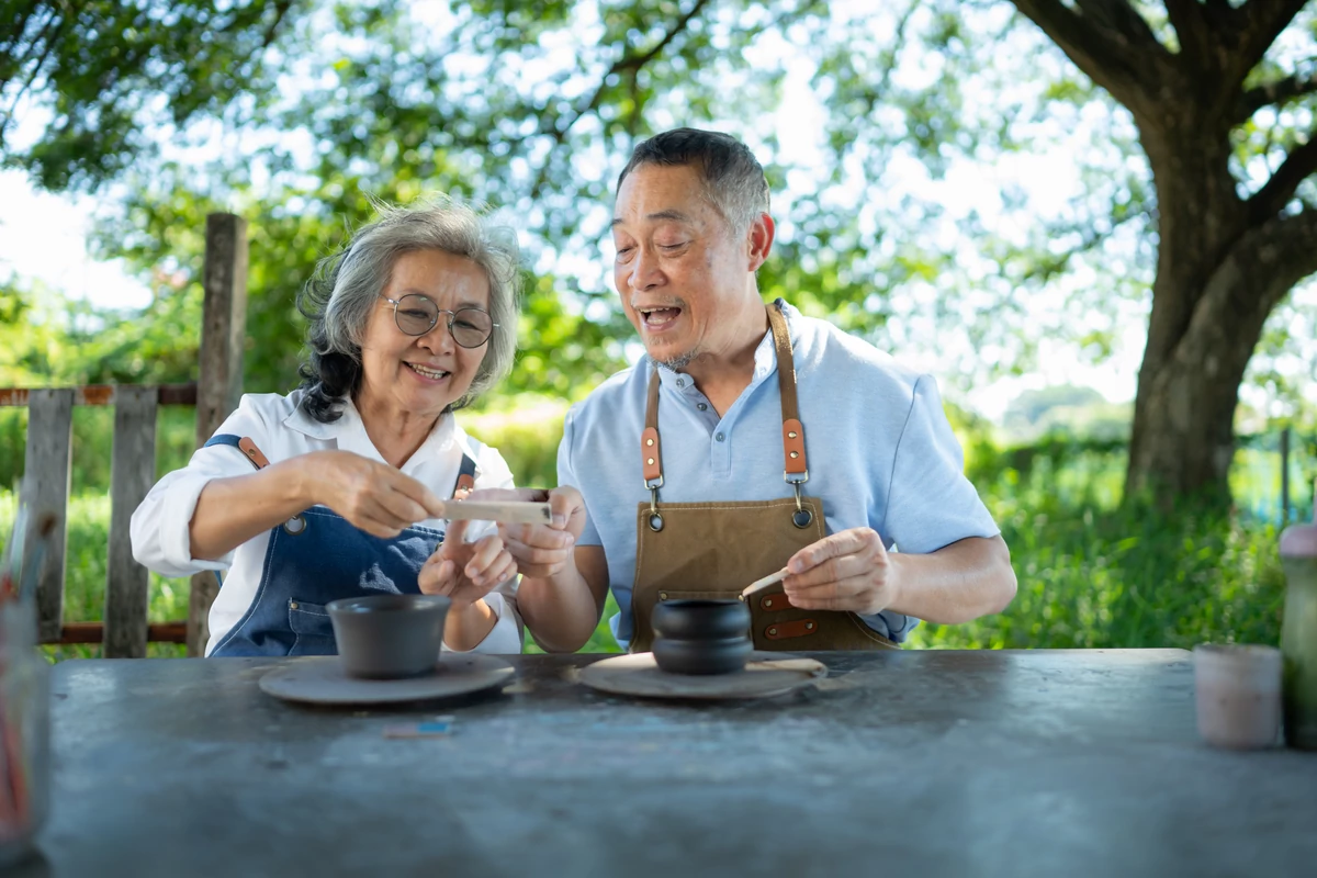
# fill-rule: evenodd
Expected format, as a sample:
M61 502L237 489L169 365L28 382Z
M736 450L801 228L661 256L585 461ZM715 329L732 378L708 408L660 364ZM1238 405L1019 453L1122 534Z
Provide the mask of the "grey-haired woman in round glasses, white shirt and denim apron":
M448 649L522 650L497 529L441 520L441 498L512 484L453 411L511 367L516 296L515 238L457 203L383 208L320 263L302 387L245 395L133 515L145 566L225 571L208 656L332 654L328 602L416 591L452 598Z

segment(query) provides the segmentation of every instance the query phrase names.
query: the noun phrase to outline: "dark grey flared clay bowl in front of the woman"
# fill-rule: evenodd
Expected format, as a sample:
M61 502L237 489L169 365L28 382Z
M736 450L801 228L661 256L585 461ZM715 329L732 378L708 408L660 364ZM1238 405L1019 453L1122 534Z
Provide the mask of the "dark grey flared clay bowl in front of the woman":
M441 595L371 595L325 604L350 677L395 679L435 671L452 602Z

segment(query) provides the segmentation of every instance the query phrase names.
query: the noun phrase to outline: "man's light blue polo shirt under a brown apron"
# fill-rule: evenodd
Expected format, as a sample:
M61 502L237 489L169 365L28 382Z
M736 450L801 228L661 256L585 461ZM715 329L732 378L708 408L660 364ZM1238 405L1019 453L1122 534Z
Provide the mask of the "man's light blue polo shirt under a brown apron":
M965 537L1000 533L964 477L960 444L942 411L936 382L823 320L785 308L795 359L799 419L810 480L827 532L871 527L889 549L927 553ZM602 545L622 612L612 633L632 634L636 504L649 502L640 432L653 363L623 370L566 415L558 484L579 488L589 521L578 545ZM755 375L722 417L689 375L658 366L662 503L774 500L793 496L782 480L782 408L777 351L768 332L755 350ZM918 620L865 616L894 641Z

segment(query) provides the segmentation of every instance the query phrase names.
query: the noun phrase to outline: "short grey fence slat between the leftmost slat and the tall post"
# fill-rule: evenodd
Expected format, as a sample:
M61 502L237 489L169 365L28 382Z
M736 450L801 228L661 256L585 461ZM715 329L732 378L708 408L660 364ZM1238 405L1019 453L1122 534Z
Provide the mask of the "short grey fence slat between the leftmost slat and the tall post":
M146 656L150 574L133 558L129 523L155 480L159 388L115 388L115 445L109 470L109 567L105 577L105 658Z

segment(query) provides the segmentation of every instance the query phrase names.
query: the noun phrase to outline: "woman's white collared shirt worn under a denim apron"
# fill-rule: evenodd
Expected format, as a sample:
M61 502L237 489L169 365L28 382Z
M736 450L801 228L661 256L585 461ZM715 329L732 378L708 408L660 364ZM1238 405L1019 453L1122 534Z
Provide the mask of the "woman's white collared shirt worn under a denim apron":
M216 433L250 437L270 463L309 452L335 449L385 462L366 434L361 415L350 400L345 401L342 416L337 421L323 424L303 411L302 398L300 390L287 396L246 394L237 411L225 419ZM464 454L475 461L477 488L512 487L512 473L503 457L495 449L469 437L452 413L439 419L425 442L403 463L402 473L425 484L439 496L448 498L457 482ZM255 598L270 534L261 533L223 558L205 561L192 557L188 524L196 511L196 499L211 479L248 475L252 471L252 462L230 445L200 448L184 469L162 478L133 512L130 528L133 557L140 563L163 577L188 577L203 570L227 571L224 584L211 607L211 640L205 648L207 654L242 619ZM439 530L446 529L448 525L441 520L416 524ZM479 540L493 532L494 527L493 523L473 521L468 540ZM522 619L516 612L515 600L516 582L514 577L485 598L498 621L473 652L522 652Z

